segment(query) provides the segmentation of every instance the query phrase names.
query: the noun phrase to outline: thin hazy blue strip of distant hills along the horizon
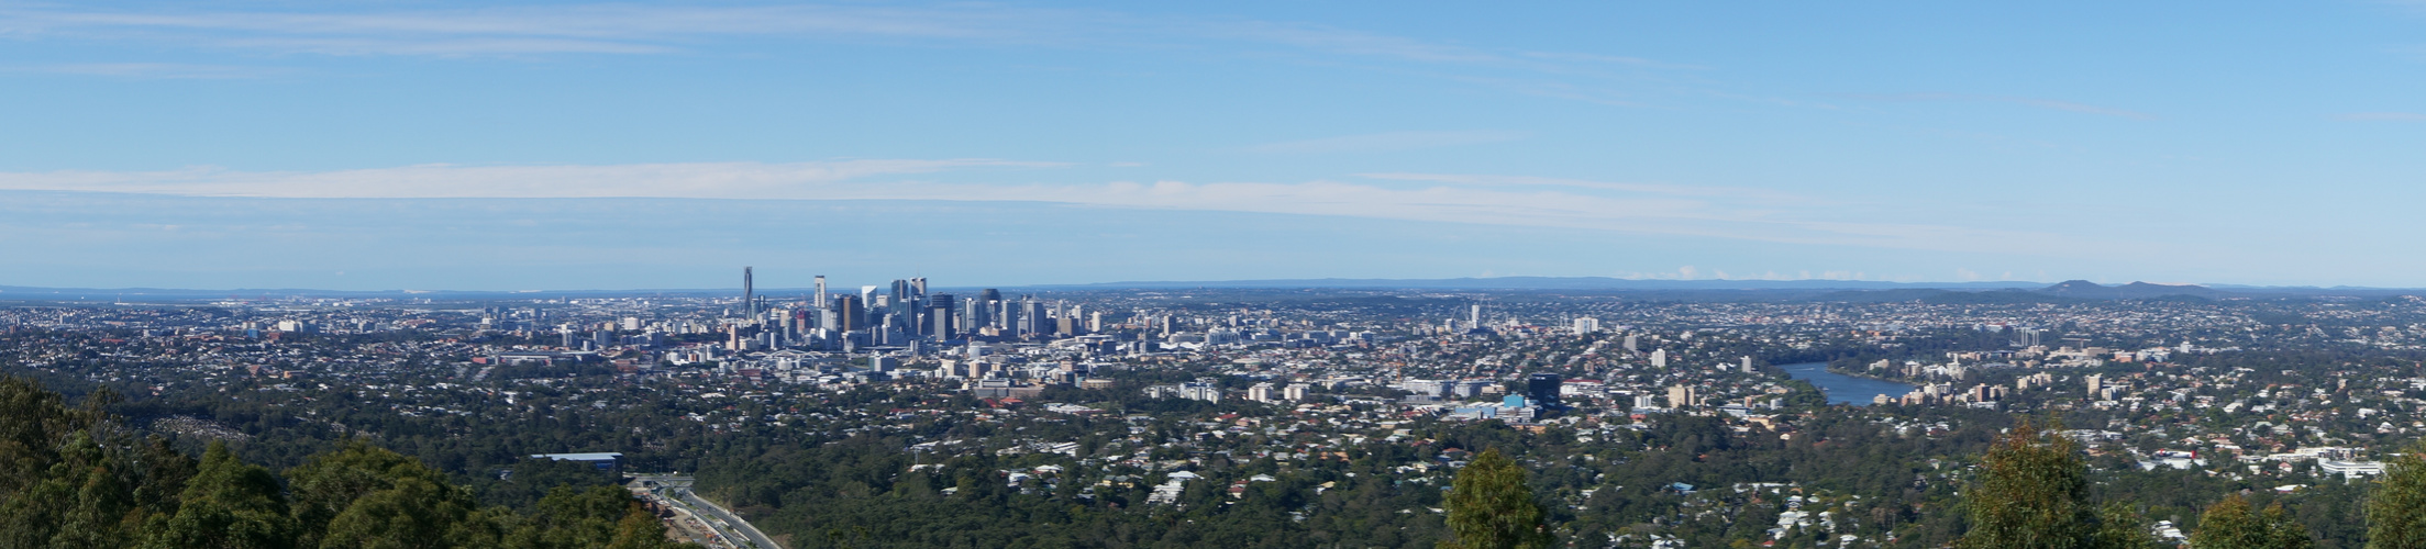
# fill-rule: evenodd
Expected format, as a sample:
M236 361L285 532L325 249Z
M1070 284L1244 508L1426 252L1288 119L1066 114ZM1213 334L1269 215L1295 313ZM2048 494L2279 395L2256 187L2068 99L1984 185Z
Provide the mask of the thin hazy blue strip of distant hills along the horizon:
M1667 297L1771 297L1771 300L1936 300L1936 302L2045 302L2045 300L2157 300L2157 297L2382 297L2421 295L2419 288L2314 288L2314 285L2164 285L2125 283L2101 285L2091 281L2065 283L1880 283L1880 281L1638 281L1606 276L1494 276L1494 278L1274 278L1274 281L1133 281L1133 283L1070 283L1070 285L1002 285L1007 290L1599 290L1599 293L1652 293ZM240 288L240 290L177 290L177 288L27 288L0 285L0 300L228 300L228 297L391 297L391 300L541 300L541 297L621 297L621 295L735 295L740 288L665 288L665 290L303 290L303 288ZM762 288L762 295L801 295L808 288Z

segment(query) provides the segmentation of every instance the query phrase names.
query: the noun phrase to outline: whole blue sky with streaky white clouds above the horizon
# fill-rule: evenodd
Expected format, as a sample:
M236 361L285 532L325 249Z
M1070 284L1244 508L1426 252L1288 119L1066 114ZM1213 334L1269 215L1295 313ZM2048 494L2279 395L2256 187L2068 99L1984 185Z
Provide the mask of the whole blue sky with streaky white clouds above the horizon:
M0 2L0 285L2426 285L2421 89L2421 2Z

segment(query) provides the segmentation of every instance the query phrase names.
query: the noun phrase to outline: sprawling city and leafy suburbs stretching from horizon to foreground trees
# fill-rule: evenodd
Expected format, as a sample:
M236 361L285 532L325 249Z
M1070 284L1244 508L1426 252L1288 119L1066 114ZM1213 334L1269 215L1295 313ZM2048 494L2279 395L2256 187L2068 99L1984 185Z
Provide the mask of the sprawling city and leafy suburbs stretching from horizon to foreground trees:
M1980 447L2023 416L2062 423L2101 486L2210 489L2142 501L2152 534L2181 542L2232 491L2331 542L2334 520L2356 522L2331 513L2356 513L2365 479L2426 433L2426 300L2407 295L815 281L0 295L0 363L109 387L143 430L262 462L369 438L497 486L534 462L609 469L716 547L949 542L852 515L910 503L835 510L878 498L1021 508L1031 525L1174 518L1155 525L1206 544L1232 534L1223 518L1262 513L1308 547L1412 547L1441 537L1441 491L1485 447L1533 472L1577 547L1936 547L1960 534L1951 505Z

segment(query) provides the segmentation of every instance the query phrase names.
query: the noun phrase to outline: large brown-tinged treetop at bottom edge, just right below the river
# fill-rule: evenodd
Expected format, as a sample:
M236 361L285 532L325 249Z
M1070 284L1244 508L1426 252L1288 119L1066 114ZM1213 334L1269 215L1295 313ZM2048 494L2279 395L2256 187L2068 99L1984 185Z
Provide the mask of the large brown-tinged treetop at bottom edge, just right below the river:
M1972 527L1958 547L2091 547L2098 537L2077 445L2028 418L1997 435L1963 503Z

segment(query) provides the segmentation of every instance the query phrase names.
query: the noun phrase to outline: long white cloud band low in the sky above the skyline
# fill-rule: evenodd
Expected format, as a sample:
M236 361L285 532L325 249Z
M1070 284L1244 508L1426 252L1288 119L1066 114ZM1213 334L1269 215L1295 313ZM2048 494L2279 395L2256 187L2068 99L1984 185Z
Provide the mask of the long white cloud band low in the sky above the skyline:
M1014 160L842 160L842 162L699 162L699 164L556 164L556 167L388 167L342 172L12 172L0 191L102 191L257 198L791 198L791 201L1036 201L1104 208L1295 213L1376 220L1426 220L1514 227L1572 227L1635 235L1693 235L1793 244L1885 249L2011 249L2082 254L2108 249L2060 235L1921 223L1851 223L1771 208L1756 193L1691 186L1594 184L1565 179L1424 177L1405 189L1351 181L1109 181L1109 184L966 184L944 172L1048 169L1060 162ZM966 177L963 177L966 179ZM1509 189L1528 181L1533 189ZM1543 184L1548 181L1548 184ZM1618 189L1633 196L1577 193L1557 186ZM1548 186L1548 189L1543 189ZM1752 198L1747 198L1752 196ZM2021 244L2016 244L2021 242Z

